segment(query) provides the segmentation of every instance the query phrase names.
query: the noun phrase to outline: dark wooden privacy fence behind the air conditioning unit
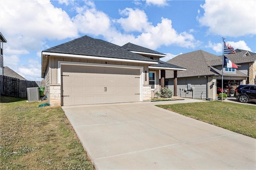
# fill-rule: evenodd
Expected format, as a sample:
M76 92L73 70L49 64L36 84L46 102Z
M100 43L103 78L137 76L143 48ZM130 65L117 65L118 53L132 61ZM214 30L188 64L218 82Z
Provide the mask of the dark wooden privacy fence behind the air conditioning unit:
M40 87L42 81L20 80L18 78L1 75L1 95L27 98L27 88Z

